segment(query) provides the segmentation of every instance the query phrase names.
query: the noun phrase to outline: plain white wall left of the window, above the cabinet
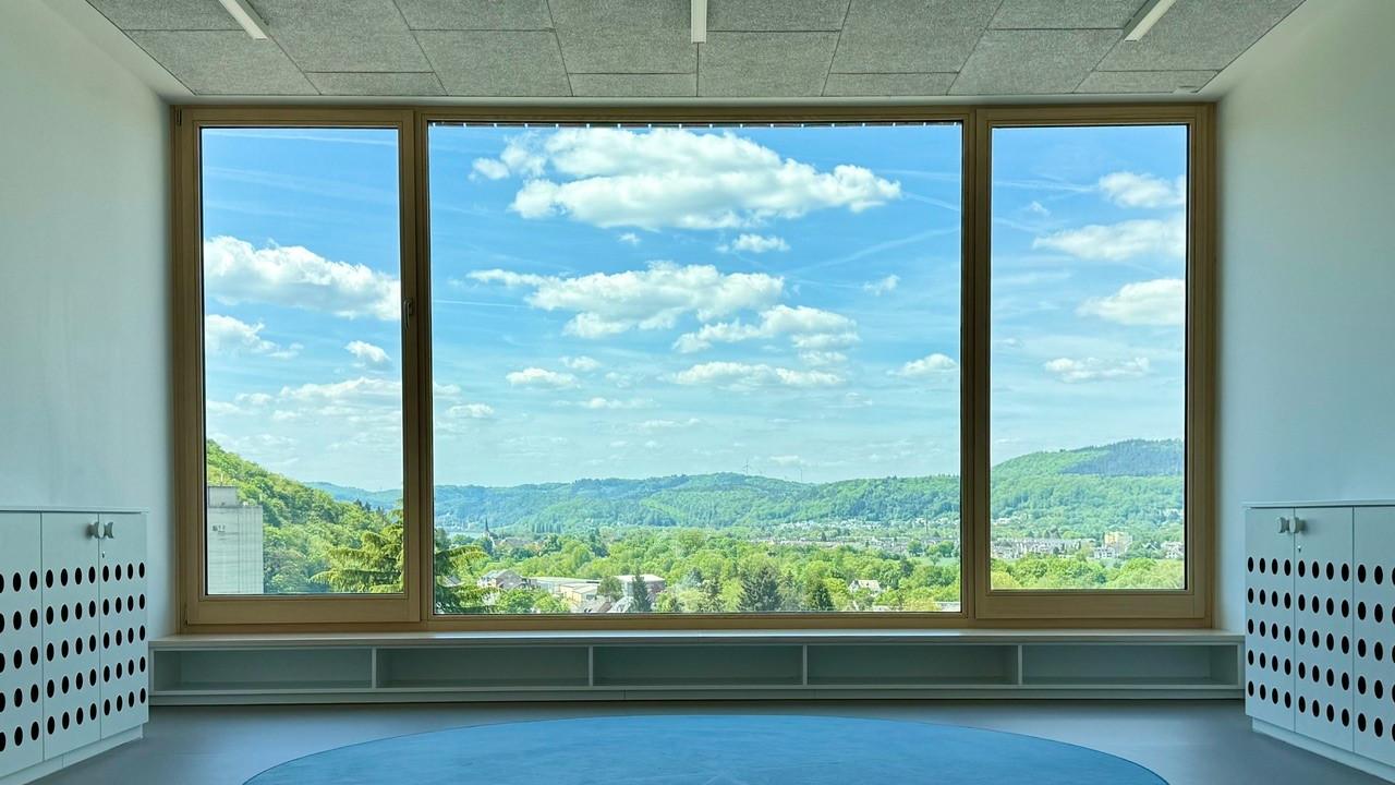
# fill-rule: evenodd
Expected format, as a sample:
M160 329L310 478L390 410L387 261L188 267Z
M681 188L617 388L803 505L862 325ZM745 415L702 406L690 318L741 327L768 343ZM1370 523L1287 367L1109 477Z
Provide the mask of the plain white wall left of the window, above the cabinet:
M0 506L149 510L174 620L167 115L35 1L0 3Z

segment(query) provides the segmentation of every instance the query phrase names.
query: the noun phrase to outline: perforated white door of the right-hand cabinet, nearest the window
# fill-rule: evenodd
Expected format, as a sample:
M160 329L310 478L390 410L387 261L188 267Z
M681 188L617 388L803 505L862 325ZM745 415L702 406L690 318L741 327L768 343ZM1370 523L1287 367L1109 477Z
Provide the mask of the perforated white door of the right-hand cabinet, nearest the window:
M1244 711L1293 729L1293 510L1244 514Z

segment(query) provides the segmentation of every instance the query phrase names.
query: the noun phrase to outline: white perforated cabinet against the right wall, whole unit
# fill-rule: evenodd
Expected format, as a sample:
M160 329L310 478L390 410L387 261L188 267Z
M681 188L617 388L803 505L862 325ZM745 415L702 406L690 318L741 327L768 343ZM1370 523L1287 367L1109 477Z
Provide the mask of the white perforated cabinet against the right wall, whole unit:
M1395 779L1392 571L1395 504L1246 510L1246 712Z

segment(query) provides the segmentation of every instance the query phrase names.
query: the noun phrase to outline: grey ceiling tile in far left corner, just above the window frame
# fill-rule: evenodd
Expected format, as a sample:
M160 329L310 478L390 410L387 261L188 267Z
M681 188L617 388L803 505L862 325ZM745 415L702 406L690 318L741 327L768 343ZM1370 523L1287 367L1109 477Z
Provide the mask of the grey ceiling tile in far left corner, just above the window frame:
M133 31L131 41L198 95L314 95L276 46L237 31Z

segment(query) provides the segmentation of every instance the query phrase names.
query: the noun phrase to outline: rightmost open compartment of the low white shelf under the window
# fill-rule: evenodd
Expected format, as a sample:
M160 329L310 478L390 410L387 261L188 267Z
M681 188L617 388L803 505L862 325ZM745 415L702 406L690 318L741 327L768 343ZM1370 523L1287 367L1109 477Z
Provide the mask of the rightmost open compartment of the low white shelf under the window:
M1237 689L1235 645L1025 644L1030 687Z

